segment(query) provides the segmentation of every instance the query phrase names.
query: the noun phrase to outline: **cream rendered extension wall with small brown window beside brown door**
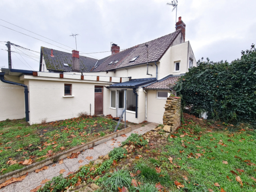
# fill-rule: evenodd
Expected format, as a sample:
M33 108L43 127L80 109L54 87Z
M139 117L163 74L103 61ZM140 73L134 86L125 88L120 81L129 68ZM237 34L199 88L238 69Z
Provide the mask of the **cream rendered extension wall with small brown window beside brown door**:
M72 84L72 96L64 96L64 83ZM96 83L72 81L29 80L30 125L78 117L78 113L94 114L94 87ZM106 85L106 84L105 84ZM106 111L108 93L103 90L103 110ZM104 99L105 97L106 99ZM104 111L104 113L105 113Z

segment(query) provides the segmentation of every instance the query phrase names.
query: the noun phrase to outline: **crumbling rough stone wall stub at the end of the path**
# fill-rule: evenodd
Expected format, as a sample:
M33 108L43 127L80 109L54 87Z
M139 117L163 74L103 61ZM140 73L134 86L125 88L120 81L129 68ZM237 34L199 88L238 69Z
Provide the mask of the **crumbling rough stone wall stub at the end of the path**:
M180 126L180 97L168 97L163 114L164 131L174 132Z

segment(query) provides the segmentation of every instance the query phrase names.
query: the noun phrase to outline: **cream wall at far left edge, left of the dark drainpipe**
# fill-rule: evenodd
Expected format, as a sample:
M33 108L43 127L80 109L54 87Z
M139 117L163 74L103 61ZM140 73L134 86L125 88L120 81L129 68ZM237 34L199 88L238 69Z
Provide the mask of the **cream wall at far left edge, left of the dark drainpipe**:
M24 84L17 76L5 75L4 79ZM22 86L10 85L0 81L0 98L0 121L6 120L6 118L20 119L25 117L25 98Z

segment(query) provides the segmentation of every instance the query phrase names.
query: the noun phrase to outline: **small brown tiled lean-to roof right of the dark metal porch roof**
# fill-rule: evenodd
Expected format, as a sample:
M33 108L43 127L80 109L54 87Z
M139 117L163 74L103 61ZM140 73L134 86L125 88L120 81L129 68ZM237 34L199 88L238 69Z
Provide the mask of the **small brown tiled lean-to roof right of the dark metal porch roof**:
M156 83L150 84L146 87L144 87L145 90L169 90L170 87L168 85L175 83L180 76L172 76L169 75L167 77L164 77L161 80L158 80Z

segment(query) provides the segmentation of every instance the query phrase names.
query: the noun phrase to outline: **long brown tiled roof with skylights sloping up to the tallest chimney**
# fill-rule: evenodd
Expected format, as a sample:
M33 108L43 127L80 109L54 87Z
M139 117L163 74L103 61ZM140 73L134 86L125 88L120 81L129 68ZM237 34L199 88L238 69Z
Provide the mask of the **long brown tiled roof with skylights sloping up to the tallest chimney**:
M123 67L130 67L138 64L145 64L147 62L147 47L148 45L148 62L154 62L160 60L165 51L170 47L173 40L181 32L177 30L169 35L154 39L150 42L146 42L132 48L128 48L119 53L110 55L105 61L102 62L93 71L102 70L115 70ZM130 62L132 58L139 56L134 62ZM109 64L111 61L116 61L115 64Z

